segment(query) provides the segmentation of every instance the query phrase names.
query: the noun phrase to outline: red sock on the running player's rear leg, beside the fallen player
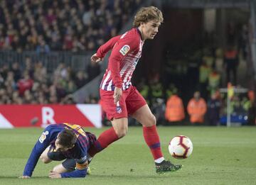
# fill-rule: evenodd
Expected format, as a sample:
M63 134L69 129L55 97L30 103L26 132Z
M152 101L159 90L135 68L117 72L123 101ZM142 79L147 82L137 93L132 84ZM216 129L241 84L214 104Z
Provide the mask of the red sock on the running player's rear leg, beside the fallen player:
M90 146L88 153L91 157L95 156L98 152L104 150L112 142L119 140L117 133L115 133L114 128L105 130L99 138L95 141L94 145Z

